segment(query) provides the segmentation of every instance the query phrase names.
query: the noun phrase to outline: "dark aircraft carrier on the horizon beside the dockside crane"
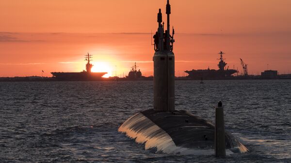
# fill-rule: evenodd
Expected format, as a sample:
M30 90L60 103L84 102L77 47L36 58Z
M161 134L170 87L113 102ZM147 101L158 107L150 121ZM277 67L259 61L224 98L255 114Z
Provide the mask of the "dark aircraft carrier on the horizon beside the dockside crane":
M218 63L219 70L214 69L206 69L206 70L192 70L192 71L185 71L185 73L189 74L188 77L192 79L206 79L206 80L212 80L212 79L229 79L232 78L232 74L237 73L237 70L228 69L226 67L226 62L224 61L223 54L224 52L220 51L220 61Z

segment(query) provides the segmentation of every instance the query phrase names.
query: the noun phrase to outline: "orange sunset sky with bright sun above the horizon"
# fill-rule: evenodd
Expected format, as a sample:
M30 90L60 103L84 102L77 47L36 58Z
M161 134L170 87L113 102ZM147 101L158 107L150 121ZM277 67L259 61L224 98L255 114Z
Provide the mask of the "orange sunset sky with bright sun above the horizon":
M291 73L291 0L170 0L176 75L229 68L249 74ZM84 55L94 71L128 74L137 62L153 74L151 31L166 0L0 0L0 77L80 72Z

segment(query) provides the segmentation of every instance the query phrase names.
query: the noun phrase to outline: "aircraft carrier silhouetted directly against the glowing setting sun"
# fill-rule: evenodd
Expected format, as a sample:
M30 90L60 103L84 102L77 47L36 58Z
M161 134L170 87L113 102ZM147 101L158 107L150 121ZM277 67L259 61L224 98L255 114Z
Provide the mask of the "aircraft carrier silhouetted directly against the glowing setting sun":
M64 73L64 72L52 72L52 77L56 80L60 81L90 81L90 80L102 80L102 76L104 74L107 74L106 72L103 73L93 73L91 72L91 69L93 67L93 64L90 63L92 60L92 55L89 53L85 55L85 60L87 61L86 64L86 71L83 70L79 73Z

